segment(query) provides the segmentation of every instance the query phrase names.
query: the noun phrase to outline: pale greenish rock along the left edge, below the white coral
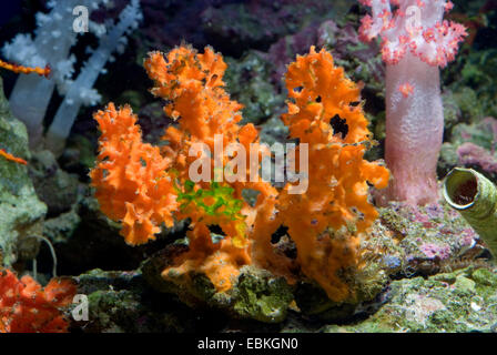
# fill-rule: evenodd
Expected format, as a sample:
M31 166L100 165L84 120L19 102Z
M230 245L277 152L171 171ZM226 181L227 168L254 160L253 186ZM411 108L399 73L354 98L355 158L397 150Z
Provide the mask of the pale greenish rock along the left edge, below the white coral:
M28 133L10 112L0 78L0 149L28 160ZM0 264L34 258L47 206L28 175L27 166L0 156Z

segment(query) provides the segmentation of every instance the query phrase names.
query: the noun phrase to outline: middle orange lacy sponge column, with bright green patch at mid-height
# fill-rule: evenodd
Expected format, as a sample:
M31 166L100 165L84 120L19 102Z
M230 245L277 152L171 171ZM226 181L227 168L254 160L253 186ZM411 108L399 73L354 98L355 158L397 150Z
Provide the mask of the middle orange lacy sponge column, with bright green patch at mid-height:
M209 215L199 209L179 211L175 214L179 219L190 217L192 221L193 230L187 234L190 251L176 260L174 266L163 272L163 276L168 277L173 273L203 271L219 291L226 291L231 287L233 277L239 274L240 267L252 262L250 248L254 231L261 231L262 221L267 220L261 215L258 219L255 216L260 211L266 210L265 215L270 216L274 211L274 197L277 195L276 190L261 179L250 182L250 144L260 148L258 132L253 124L239 124L243 105L231 100L224 90L223 75L226 64L222 55L214 53L212 48L206 47L204 53L199 53L190 45L174 48L166 54L152 52L144 67L155 83L151 92L166 100L164 112L179 122L178 128L170 126L166 130L163 140L168 141L169 145L163 149L163 153L172 160L181 185L189 180L190 166L197 159L189 155L194 143L203 143L213 152L215 136L222 134L223 151L230 143L240 143L247 153L245 181L222 183L224 187L233 190L231 199L240 202L241 219L226 221L222 215ZM211 181L214 181L214 159L209 159ZM229 158L223 154L223 171L227 163ZM201 181L194 189L212 189L212 185ZM244 189L260 192L254 206L243 200ZM213 224L219 225L226 235L219 243L211 241L207 225Z

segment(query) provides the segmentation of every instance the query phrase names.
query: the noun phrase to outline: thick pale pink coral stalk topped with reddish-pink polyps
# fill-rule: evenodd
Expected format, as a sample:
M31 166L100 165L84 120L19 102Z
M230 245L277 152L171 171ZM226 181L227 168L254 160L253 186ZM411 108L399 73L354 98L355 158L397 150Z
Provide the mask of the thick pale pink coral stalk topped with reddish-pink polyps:
M436 164L444 114L439 69L454 60L467 36L444 21L445 0L359 0L372 8L362 19L363 41L382 39L386 63L385 160L394 176L384 200L425 204L438 200Z

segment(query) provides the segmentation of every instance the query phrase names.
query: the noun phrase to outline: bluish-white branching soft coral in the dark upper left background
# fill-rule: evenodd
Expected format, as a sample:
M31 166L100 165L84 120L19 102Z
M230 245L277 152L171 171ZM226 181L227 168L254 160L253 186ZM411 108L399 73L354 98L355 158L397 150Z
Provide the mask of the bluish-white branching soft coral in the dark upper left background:
M62 142L69 134L81 105L99 102L100 95L92 89L93 84L112 52L122 50L123 42L119 39L136 28L138 21L142 19L140 1L130 0L130 4L120 16L120 22L111 29L89 21L90 32L100 39L101 44L83 65L71 54L71 48L77 43L78 37L73 30L73 22L77 19L73 9L85 7L90 13L109 3L109 0L48 1L47 8L50 11L39 12L36 16L38 26L36 37L20 33L3 45L2 53L10 61L28 67L49 64L52 70L50 80L36 75L21 75L10 95L11 110L27 125L31 146L41 142L43 119L55 87L64 100L53 120L57 123L52 124L51 131L58 132ZM105 48L102 48L102 44ZM81 70L74 67L81 67ZM74 78L78 71L79 74ZM74 84L79 87L74 89ZM64 115L64 122L58 119L61 115Z

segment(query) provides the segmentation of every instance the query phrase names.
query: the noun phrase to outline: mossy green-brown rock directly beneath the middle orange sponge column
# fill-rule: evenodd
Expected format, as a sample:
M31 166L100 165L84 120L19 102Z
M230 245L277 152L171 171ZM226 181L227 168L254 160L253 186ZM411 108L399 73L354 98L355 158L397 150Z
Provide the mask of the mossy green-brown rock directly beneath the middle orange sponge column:
M192 308L221 310L234 318L250 318L264 323L283 322L293 300L292 287L283 277L265 270L243 266L227 292L217 292L201 273L172 274L161 277L162 271L187 246L175 244L156 253L142 265L148 283L159 292L174 294Z

